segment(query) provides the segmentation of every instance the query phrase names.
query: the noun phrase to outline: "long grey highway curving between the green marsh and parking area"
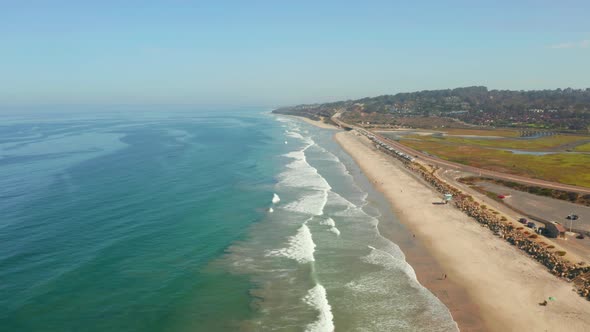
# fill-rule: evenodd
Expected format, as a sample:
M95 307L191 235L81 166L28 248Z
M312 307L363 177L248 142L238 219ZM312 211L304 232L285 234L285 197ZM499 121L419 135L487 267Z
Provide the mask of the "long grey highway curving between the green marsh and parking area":
M454 163L454 162L448 161L448 160L443 160L443 159L437 158L435 156L428 155L428 154L422 153L420 151L414 150L412 148L409 148L399 142L396 142L396 141L391 140L389 138L383 137L373 131L368 131L364 128L360 128L360 127L353 126L348 123L342 122L339 119L339 117L340 117L339 113L335 114L332 117L332 121L334 121L336 124L338 124L339 126L341 126L343 128L355 129L356 131L358 131L364 135L373 135L375 137L378 137L380 140L382 140L383 142L387 142L395 149L400 150L410 156L418 157L422 162L425 162L425 163L428 163L428 164L431 164L434 166L438 166L438 167L446 168L446 169L455 169L455 170L459 170L462 172L474 173L479 176L487 176L487 177L492 177L492 178L506 180L506 181L519 182L519 183L523 183L523 184L527 184L527 185L531 185L531 186L539 186L539 187L544 187L544 188L549 188L549 189L557 189L557 190L563 190L563 191L573 191L573 192L578 192L578 193L582 193L582 194L590 194L590 188L572 186L572 185L568 185L568 184L561 184L561 183L550 182L550 181L545 181L545 180L540 180L540 179L532 179L532 178L527 178L527 177L519 176L519 175L500 173L500 172L490 171L490 170L477 168L477 167L473 167L473 166L458 164L458 163Z

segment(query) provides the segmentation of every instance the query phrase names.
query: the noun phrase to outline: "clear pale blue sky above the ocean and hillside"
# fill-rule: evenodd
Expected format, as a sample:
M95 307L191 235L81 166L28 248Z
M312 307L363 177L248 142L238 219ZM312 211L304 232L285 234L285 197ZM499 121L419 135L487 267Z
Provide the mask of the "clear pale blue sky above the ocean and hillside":
M588 0L5 0L0 105L586 88L589 15Z

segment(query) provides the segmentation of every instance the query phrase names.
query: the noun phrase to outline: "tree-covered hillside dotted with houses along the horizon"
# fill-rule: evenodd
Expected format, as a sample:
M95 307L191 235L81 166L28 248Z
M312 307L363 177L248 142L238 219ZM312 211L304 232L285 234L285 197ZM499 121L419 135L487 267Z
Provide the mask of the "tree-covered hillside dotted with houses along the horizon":
M588 132L590 88L539 91L488 90L483 86L398 93L327 104L299 105L277 113L329 117L412 127L491 126ZM410 119L437 120L437 125L412 124Z

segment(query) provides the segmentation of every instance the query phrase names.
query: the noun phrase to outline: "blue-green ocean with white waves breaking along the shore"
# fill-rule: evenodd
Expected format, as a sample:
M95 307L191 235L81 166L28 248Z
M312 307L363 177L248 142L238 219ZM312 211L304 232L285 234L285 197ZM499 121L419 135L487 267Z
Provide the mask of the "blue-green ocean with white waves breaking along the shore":
M0 121L2 330L457 330L331 130L261 109Z

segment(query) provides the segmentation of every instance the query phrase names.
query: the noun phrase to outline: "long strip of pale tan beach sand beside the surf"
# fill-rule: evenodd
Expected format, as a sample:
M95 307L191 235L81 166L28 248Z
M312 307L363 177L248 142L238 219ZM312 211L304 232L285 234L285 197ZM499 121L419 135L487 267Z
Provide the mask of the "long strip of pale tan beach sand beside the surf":
M341 132L335 139L415 234L415 248L405 241L408 261L462 331L590 331L590 303L573 285L451 205L433 204L440 194L365 137ZM380 225L383 235L399 242L387 227ZM538 304L550 296L556 301Z

